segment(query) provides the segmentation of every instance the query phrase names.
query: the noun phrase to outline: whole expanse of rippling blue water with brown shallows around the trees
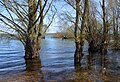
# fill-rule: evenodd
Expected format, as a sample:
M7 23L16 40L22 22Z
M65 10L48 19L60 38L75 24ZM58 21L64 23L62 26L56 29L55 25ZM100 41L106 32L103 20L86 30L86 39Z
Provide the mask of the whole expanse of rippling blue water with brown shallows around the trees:
M42 41L40 60L25 61L17 40L0 40L0 82L120 82L120 51L103 57L87 53L81 67L74 66L74 41L47 38ZM38 63L39 62L39 63Z

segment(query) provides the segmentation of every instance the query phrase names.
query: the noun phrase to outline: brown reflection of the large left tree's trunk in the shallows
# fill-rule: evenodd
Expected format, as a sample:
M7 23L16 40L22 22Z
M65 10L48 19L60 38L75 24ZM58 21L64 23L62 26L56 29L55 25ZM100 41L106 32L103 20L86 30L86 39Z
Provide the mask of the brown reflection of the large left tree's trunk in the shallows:
M30 82L44 82L40 59L26 60L25 76Z

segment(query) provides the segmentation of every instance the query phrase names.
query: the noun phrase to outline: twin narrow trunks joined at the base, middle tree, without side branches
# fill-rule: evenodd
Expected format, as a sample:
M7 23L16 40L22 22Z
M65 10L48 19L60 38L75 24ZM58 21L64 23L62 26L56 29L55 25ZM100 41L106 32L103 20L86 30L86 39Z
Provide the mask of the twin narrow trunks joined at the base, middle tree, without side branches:
M84 39L83 39L83 31L85 27L85 19L86 19L86 10L88 6L88 0L85 0L84 3L84 12L82 15L82 21L81 21L81 28L80 31L78 32L78 24L79 24L79 18L80 18L80 0L76 0L76 21L75 21L75 45L76 45L76 50L74 54L74 64L75 65L80 65L81 59L83 57L83 45L84 45Z

